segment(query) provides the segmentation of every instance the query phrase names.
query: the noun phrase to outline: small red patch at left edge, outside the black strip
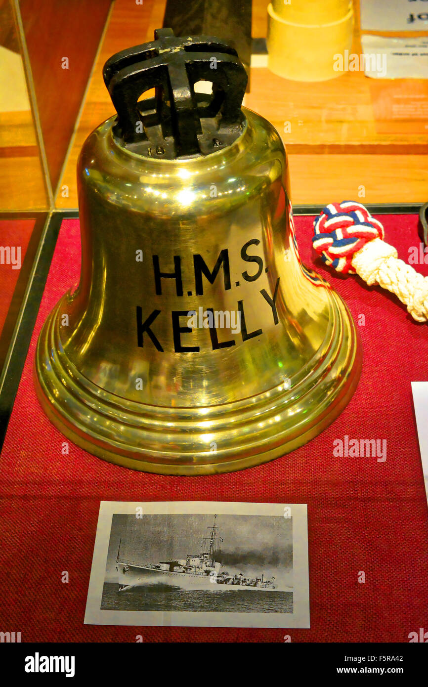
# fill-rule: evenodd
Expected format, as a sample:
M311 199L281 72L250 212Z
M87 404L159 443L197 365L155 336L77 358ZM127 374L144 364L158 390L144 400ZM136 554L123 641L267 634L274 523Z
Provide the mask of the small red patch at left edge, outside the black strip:
M21 246L21 264L34 229L34 219L3 219L0 221L0 246ZM0 336L19 278L19 269L0 264Z

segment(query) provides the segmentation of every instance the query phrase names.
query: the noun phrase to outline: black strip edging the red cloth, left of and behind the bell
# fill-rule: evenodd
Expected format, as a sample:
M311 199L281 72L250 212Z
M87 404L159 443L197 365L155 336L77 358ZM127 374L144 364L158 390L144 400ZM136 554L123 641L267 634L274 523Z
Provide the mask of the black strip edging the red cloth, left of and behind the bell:
M423 203L368 203L365 204L365 207L371 214L419 214L422 205ZM294 205L293 214L316 216L322 212L324 207L325 205ZM28 213L0 213L0 218L19 218L22 216L28 216ZM8 357L6 357L0 377L0 451L8 429L10 414L18 391L60 227L65 219L78 218L78 216L79 213L76 209L56 210L47 219L45 225L40 250L34 260L18 322L8 350Z

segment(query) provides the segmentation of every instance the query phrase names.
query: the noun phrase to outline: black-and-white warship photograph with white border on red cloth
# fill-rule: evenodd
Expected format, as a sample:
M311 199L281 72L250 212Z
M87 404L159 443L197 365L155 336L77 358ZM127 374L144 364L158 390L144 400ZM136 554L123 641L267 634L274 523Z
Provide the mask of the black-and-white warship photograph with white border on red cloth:
M309 627L306 505L102 502L85 623Z

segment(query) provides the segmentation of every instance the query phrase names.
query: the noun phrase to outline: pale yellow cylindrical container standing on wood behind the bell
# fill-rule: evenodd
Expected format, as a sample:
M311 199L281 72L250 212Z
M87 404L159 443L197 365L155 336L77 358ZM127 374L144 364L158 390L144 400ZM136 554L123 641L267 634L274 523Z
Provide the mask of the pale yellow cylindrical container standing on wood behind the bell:
M293 0L285 5L283 0L274 0L267 11L268 67L273 74L294 81L326 81L341 76L335 64L337 55L343 56L352 46L352 3Z

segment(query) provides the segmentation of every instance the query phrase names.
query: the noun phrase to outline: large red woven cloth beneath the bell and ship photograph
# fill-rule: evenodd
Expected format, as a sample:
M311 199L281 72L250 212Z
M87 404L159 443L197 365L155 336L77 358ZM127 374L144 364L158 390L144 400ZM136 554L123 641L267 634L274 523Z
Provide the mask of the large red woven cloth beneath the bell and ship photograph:
M407 259L416 216L379 217ZM312 218L296 218L312 264ZM23 642L282 642L282 629L109 627L83 624L100 500L308 504L311 629L292 642L408 642L428 629L428 519L410 383L428 379L428 328L394 297L359 278L317 270L361 326L357 392L335 423L306 446L256 468L207 477L162 477L111 465L70 444L41 412L32 383L36 337L60 295L78 280L78 221L63 223L1 455L1 629ZM428 265L418 265L428 274ZM387 440L387 460L335 458L333 441ZM69 583L61 582L63 570ZM365 572L365 583L357 581ZM285 630L286 628L284 628Z

